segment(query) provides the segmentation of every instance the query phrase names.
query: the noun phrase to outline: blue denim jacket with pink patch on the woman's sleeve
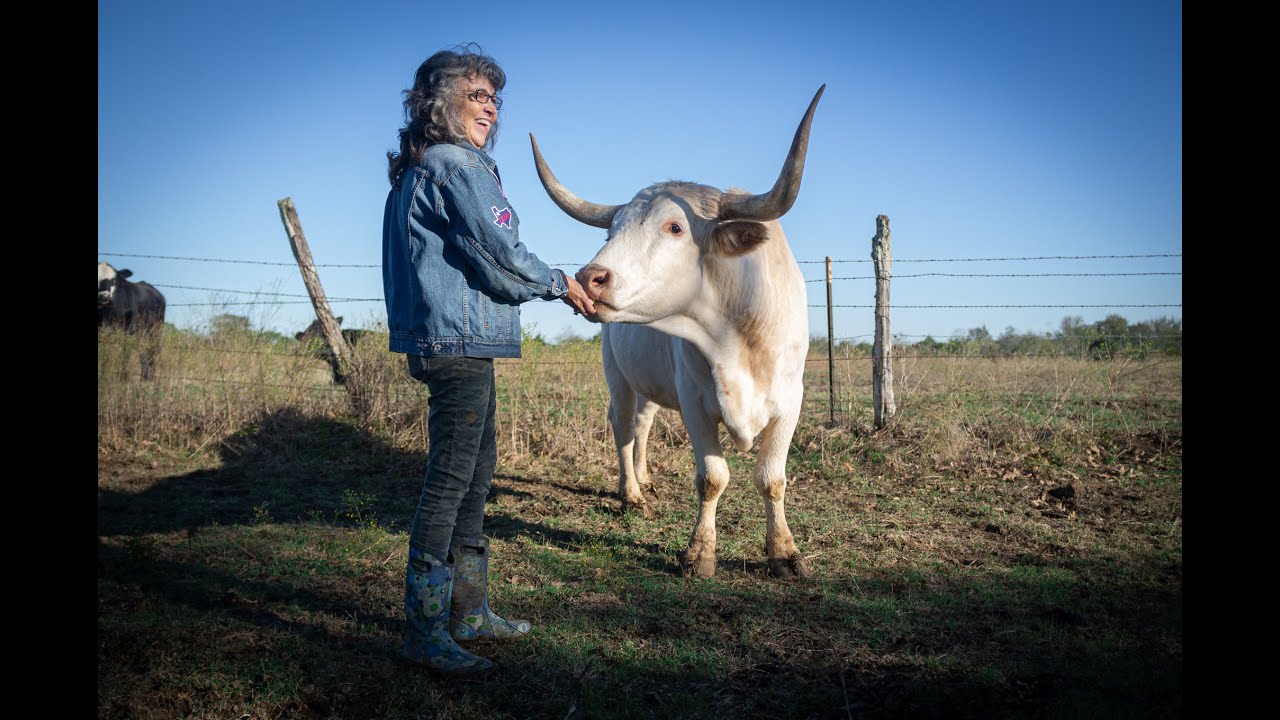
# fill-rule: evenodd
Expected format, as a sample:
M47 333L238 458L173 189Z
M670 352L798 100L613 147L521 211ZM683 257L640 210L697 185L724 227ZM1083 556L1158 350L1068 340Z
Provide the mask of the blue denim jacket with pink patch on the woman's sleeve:
M568 293L520 242L498 165L433 145L387 196L383 290L392 352L520 357L520 304Z

